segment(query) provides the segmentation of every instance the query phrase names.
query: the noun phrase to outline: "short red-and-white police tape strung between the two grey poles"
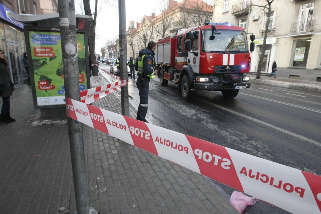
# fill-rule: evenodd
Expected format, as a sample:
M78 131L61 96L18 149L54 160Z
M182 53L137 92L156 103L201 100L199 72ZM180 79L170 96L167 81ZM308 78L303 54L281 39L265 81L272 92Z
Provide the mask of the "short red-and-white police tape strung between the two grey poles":
M106 97L108 94L114 92L118 88L127 85L128 80L112 82L108 85L98 86L96 88L83 90L80 92L80 101L86 104L91 104L100 98Z

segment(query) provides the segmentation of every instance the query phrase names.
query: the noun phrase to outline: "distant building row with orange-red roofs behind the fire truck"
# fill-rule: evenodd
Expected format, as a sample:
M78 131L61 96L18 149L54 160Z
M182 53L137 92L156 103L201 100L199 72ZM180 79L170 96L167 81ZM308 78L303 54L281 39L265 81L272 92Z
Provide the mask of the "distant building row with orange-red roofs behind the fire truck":
M213 5L202 0L169 0L160 5L162 13L144 15L141 22L130 21L127 30L127 56L138 57L138 52L147 47L149 41L175 33L176 29L187 29L211 20Z

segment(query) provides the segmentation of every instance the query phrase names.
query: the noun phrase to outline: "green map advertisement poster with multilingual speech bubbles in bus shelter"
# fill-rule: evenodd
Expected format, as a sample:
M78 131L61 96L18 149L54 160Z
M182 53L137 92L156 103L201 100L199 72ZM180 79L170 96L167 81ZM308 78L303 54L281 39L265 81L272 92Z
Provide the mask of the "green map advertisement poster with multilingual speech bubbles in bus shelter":
M60 32L29 31L38 106L65 104ZM80 90L87 90L85 36L77 33Z

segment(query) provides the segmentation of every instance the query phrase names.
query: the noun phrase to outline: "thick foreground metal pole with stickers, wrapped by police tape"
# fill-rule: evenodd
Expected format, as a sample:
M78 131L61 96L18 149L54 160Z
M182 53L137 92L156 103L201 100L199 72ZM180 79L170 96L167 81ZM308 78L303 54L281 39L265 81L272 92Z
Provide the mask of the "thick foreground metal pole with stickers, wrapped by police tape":
M59 0L58 6L65 97L80 101L75 3L74 0ZM77 213L89 214L88 180L82 125L69 117L67 117L67 123Z

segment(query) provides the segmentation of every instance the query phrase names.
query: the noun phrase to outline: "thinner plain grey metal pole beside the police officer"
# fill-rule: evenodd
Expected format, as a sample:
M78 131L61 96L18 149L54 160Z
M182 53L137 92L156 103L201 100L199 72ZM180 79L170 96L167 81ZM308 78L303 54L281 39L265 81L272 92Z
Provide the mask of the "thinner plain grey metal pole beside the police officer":
M118 0L120 79L127 80L127 39L125 0ZM128 85L121 87L121 113L129 116Z

